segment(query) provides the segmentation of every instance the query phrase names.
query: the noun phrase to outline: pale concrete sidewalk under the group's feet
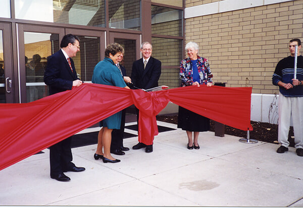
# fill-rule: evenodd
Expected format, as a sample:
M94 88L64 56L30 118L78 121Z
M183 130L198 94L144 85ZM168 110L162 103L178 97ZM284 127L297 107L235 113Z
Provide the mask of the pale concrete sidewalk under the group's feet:
M95 161L96 145L73 148L86 170L66 173L70 182L49 177L48 149L0 171L0 205L303 206L303 157L293 147L278 154L277 144L203 132L200 149L188 150L185 131L158 124L176 130L156 136L151 153L125 139L130 150L114 155L121 163Z

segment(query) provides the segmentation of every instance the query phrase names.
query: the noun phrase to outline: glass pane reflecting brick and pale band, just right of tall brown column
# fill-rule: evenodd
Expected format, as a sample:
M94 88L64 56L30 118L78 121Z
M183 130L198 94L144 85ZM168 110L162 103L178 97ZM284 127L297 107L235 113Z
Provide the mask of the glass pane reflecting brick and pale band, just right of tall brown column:
M182 36L182 10L151 6L151 32L153 34Z

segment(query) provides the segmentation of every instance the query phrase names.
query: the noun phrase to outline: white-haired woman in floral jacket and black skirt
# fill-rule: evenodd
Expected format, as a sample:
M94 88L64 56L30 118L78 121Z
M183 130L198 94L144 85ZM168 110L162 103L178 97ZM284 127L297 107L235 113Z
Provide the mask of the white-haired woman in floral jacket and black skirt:
M200 84L205 84L208 87L212 86L213 75L208 60L197 55L199 50L198 44L195 42L188 42L185 46L185 50L188 58L182 60L180 63L180 79L182 80L181 86L200 86ZM185 130L187 133L187 148L199 149L199 132L209 131L210 119L179 106L178 128L182 128L182 130Z

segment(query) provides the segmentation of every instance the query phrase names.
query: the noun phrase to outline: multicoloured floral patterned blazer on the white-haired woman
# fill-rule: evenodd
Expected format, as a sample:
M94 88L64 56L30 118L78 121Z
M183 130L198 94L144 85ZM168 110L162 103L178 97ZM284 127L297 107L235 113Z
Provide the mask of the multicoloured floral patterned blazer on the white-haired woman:
M200 76L200 83L207 84L208 82L212 83L213 74L211 72L210 65L208 60L203 57L197 57L197 68ZM180 63L180 79L182 80L181 86L192 85L192 62L189 58L184 59Z

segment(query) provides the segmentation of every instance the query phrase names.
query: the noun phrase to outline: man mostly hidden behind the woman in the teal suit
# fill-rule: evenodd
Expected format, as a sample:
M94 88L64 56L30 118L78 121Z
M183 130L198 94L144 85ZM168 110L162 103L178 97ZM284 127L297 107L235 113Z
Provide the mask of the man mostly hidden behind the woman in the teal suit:
M126 84L131 83L130 77L126 76L126 69L121 64L123 61L123 55L119 57L118 61L119 63L116 64L116 66L120 69L121 75L123 76L123 80L125 81ZM125 115L126 115L126 109L123 109L120 129L113 129L112 131L111 153L113 154L124 155L125 154L124 151L129 150L128 147L123 146Z

